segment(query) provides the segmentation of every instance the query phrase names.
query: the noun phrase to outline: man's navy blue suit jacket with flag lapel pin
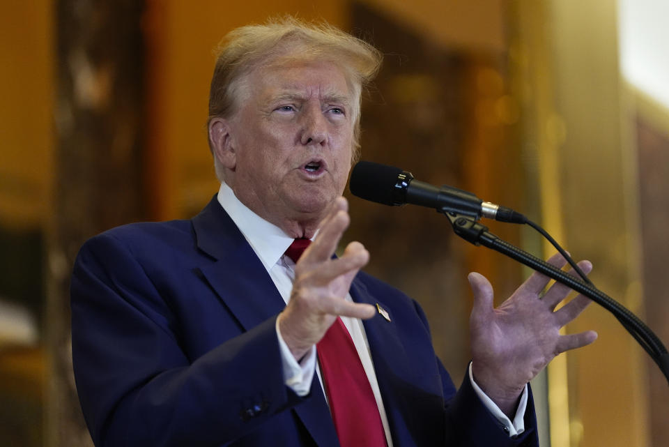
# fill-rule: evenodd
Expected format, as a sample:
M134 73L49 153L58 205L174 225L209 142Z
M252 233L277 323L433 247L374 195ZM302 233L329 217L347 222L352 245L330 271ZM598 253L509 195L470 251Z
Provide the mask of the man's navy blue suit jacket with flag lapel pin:
M306 397L284 384L284 301L215 198L192 220L95 236L71 291L75 379L96 446L339 446L318 379ZM394 446L537 445L531 400L528 430L510 439L468 379L456 392L415 301L364 273L351 296L390 313L364 329Z

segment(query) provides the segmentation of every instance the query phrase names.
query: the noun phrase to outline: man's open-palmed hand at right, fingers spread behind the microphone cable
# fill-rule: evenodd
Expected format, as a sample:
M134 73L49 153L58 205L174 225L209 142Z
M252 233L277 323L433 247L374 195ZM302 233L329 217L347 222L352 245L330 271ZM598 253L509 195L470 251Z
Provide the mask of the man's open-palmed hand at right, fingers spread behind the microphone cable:
M562 268L567 261L554 255L548 263ZM592 270L587 261L579 262L578 266L585 273ZM539 298L550 279L535 272L495 309L490 282L479 273L470 273L468 279L474 293L470 316L474 380L505 414L514 414L525 384L555 356L597 338L594 331L560 335L560 328L575 319L591 301L578 295L555 311L569 294L569 288L555 283Z

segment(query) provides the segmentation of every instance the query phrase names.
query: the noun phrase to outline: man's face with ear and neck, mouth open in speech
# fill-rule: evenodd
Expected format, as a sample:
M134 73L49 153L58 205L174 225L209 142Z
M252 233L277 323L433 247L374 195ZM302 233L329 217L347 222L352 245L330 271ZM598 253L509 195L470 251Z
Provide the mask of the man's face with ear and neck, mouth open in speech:
M230 121L237 197L261 217L321 220L351 168L353 103L344 72L312 61L255 70Z

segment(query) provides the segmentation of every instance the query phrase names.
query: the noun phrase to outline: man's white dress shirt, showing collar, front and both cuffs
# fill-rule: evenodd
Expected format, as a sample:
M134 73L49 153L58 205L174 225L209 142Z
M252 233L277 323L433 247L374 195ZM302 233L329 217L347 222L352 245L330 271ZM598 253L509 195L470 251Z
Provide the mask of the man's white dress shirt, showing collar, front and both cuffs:
M284 253L293 243L293 238L286 235L282 229L264 220L259 215L247 208L242 202L237 199L231 188L226 183L221 183L221 188L217 196L218 202L223 206L223 209L228 213L230 218L235 222L240 232L244 235L251 248L259 257L263 266L265 266L270 278L274 282L279 294L286 304L291 297L291 290L293 289L293 280L295 279L295 263ZM347 294L346 299L353 301L350 294ZM360 356L362 368L364 368L369 385L371 386L374 399L378 406L378 412L383 423L383 430L388 443L388 447L392 447L392 437L390 436L390 425L388 425L388 418L381 399L380 389L378 388L378 381L376 379L376 372L374 372L374 363L371 361L371 354L369 351L369 343L367 336L364 333L364 326L360 319L341 317L344 326L351 334L353 344L357 354ZM300 396L307 395L312 386L314 378L314 371L318 374L318 379L321 381L321 388L323 388L323 381L321 380L321 372L317 368L316 362L316 346L312 347L309 353L300 360L300 363L295 361L293 354L289 347L284 342L279 325L277 323L277 335L279 338L279 347L281 349L284 380L286 386L289 386L296 394ZM469 366L469 377L472 382L475 393L482 400L486 408L491 411L495 418L506 427L509 436L521 434L525 430L523 416L525 415L525 407L528 400L528 389L525 386L525 391L521 396L520 403L514 421L509 420L507 416L502 413L499 407L487 396L479 386L475 383L472 377L471 364ZM323 391L327 400L327 395Z

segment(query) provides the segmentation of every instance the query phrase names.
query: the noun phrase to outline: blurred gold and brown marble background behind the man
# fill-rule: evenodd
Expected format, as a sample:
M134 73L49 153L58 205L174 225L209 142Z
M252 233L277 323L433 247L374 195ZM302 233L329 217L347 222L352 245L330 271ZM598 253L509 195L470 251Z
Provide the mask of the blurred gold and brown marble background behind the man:
M218 185L206 142L213 49L279 14L374 43L362 158L539 222L669 342L669 3L664 0L2 0L0 445L91 446L72 379L68 287L90 236L190 218ZM348 192L347 192L348 194ZM466 274L497 299L529 274L427 209L351 198L368 271L415 297L459 383ZM521 227L491 232L550 255ZM534 386L541 445L669 446L669 388L591 306L599 340Z

